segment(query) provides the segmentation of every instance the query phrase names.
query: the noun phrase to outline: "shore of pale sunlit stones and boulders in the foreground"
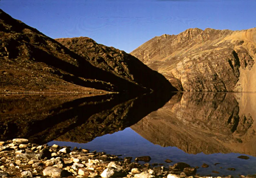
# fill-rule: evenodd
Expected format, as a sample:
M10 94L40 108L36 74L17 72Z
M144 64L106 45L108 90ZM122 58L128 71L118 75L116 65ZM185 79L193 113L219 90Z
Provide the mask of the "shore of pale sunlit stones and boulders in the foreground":
M161 164L149 164L149 156L120 158L105 152L87 149L48 146L29 143L27 139L16 138L0 142L0 177L127 177L127 178L208 178L196 174L199 167L190 167L186 163L175 163L165 167ZM140 164L138 161L144 161ZM172 162L169 159L167 163ZM204 165L206 166L206 165ZM231 178L229 175L226 178ZM256 177L241 175L240 177ZM212 177L211 177L212 178ZM218 177L221 178L221 177Z

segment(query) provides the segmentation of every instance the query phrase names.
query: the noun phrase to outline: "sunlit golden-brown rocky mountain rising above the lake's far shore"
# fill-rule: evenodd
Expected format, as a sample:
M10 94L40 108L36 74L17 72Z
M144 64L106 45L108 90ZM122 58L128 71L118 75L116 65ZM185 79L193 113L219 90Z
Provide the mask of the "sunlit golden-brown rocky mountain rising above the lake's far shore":
M256 91L256 28L188 29L156 36L131 52L184 91Z

